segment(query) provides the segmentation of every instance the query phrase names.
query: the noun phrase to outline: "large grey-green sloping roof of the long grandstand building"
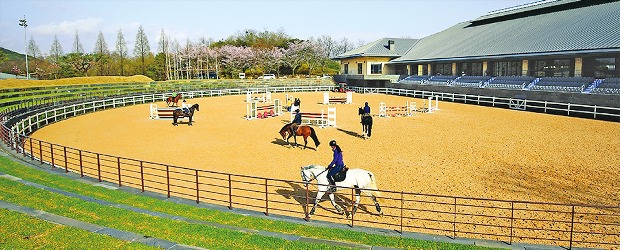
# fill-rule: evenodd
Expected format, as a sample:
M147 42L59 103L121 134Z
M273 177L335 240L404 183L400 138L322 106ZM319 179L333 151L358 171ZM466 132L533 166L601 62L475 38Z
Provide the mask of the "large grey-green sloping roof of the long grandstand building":
M422 38L409 52L391 62L595 52L620 52L617 0L545 1L491 12Z

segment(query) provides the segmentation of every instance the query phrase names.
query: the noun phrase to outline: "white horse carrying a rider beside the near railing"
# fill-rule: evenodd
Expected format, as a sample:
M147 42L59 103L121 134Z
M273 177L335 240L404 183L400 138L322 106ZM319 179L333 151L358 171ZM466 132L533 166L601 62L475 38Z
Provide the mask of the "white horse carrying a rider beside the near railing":
M318 193L316 194L316 198L314 200L314 205L308 213L308 218L310 215L314 214L314 210L316 205L321 201L321 198L325 193L329 193L329 199L332 202L332 205L338 210L338 213L343 214L344 211L340 205L336 204L334 200L334 193L329 192L329 181L327 180L327 169L321 165L308 165L305 167L301 167L301 179L304 182L305 186L312 180L317 180L318 182ZM381 206L379 206L379 202L377 202L377 196L379 191L377 191L377 183L375 181L375 175L369 171L363 169L349 169L347 171L346 178L341 182L336 182L336 188L355 188L355 204L353 206L353 210L351 211L351 216L355 214L357 211L357 206L360 202L360 193L364 192L372 198L372 201L375 203L375 208L377 208L377 212L383 215L381 211Z

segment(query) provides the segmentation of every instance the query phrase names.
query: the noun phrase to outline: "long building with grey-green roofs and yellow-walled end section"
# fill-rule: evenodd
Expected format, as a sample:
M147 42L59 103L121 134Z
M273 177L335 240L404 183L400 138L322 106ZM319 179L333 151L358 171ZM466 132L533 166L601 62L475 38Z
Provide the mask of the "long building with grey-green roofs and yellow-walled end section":
M620 77L620 1L547 0L421 39L384 38L336 56L349 85L406 76Z

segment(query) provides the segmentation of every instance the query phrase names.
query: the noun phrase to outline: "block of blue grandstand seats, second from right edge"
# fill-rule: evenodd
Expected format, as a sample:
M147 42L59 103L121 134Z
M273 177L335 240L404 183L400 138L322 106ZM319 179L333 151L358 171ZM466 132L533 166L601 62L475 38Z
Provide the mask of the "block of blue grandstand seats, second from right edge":
M543 77L530 90L581 93L592 82L593 77Z

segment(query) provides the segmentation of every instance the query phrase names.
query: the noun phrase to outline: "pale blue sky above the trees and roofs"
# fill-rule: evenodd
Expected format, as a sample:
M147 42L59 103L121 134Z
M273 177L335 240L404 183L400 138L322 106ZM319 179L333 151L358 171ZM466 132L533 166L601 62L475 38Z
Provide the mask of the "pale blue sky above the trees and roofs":
M423 38L490 11L535 1L0 0L0 47L23 54L25 42L32 38L47 55L57 36L64 53L69 53L77 33L89 53L101 32L113 51L122 30L132 53L140 25L153 53L157 52L162 29L181 45L188 39L218 41L252 29L282 30L298 39L324 35L334 40L346 38L359 46L385 37ZM24 17L28 25L25 30L19 26Z

